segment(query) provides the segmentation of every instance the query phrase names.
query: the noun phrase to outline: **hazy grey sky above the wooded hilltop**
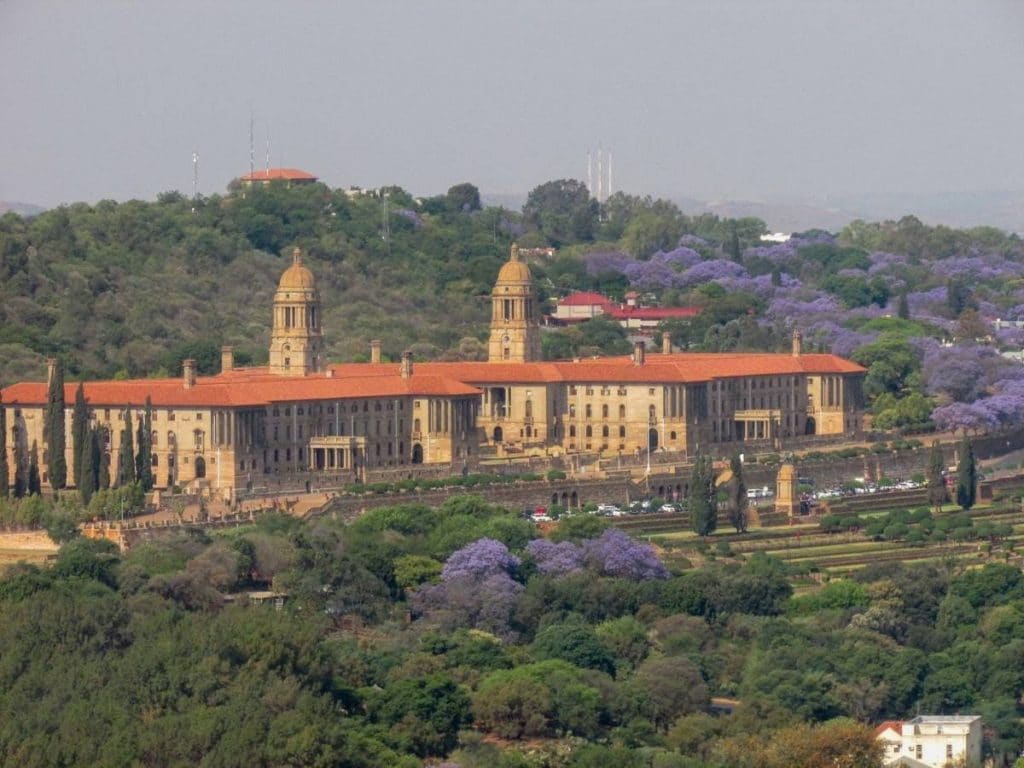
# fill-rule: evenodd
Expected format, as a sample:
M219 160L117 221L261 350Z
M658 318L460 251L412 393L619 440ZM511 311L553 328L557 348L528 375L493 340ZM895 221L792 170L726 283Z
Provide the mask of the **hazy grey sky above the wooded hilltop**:
M0 200L257 167L525 193L1024 189L1024 2L0 0Z

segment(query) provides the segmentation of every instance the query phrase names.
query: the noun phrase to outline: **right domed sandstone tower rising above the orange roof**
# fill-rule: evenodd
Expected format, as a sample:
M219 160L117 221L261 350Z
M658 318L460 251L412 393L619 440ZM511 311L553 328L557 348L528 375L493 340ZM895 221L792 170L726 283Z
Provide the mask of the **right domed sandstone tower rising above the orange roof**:
M519 260L519 247L512 245L512 256L498 272L490 294L490 362L528 362L541 359L541 326L534 275Z

